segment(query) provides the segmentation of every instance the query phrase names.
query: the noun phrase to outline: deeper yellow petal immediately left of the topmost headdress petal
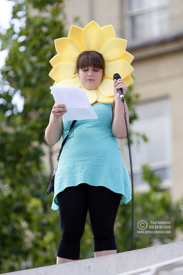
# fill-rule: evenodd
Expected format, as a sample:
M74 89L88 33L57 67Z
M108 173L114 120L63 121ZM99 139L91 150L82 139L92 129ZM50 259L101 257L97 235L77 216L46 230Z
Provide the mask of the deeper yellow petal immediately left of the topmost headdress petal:
M75 25L71 25L68 33L68 37L73 39L74 42L79 46L81 52L86 50L86 46L83 40L83 28Z

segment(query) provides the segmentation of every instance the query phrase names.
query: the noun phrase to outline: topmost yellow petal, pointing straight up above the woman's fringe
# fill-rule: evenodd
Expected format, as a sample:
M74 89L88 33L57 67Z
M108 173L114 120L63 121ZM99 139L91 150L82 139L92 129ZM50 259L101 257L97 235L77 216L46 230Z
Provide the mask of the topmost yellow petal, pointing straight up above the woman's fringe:
M97 51L102 40L102 30L94 20L85 26L83 39L88 51Z

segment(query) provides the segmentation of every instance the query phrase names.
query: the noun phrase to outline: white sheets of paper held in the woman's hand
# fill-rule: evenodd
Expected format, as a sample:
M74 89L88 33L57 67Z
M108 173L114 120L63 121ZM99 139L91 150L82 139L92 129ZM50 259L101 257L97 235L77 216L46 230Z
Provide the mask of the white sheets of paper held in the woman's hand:
M50 86L56 104L65 104L65 120L98 119L84 91L76 86Z

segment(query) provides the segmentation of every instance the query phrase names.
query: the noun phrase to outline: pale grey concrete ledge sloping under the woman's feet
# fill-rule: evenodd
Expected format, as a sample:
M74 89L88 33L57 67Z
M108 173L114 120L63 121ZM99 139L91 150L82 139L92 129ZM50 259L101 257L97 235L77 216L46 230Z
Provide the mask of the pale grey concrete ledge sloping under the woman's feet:
M11 275L116 275L183 255L183 241L121 252L97 258L43 266L10 273Z

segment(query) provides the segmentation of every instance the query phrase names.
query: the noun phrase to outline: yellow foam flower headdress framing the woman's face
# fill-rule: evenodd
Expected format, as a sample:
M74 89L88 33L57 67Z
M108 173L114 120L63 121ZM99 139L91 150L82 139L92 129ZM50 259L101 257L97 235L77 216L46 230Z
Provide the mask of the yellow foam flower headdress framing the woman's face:
M113 103L113 75L119 73L126 86L133 83L130 74L134 70L130 63L133 55L126 51L127 40L116 38L112 25L102 28L93 20L85 28L71 25L68 37L54 40L57 54L50 60L53 66L49 76L55 80L53 86L77 86L85 90L90 104ZM77 56L85 50L102 53L105 60L105 78L95 90L81 85L78 74L74 75ZM52 94L52 92L51 92Z

